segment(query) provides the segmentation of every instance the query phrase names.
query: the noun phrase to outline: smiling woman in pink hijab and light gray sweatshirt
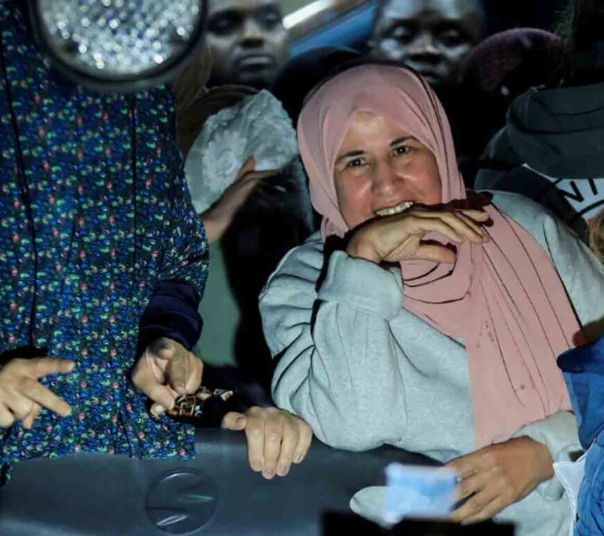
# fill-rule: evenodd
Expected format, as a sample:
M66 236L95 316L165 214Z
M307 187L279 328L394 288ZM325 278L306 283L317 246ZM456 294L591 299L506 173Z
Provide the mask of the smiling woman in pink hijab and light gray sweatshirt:
M453 519L567 533L553 463L580 445L555 360L604 316L601 263L530 200L465 191L442 106L413 71L337 74L298 134L324 220L260 297L278 406L334 447L449 462L471 496Z

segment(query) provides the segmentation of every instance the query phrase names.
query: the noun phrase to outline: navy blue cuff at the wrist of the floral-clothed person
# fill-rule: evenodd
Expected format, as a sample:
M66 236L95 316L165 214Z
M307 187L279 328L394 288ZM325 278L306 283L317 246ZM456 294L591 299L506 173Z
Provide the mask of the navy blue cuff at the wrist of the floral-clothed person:
M160 337L171 338L191 350L199 336L203 321L197 311L201 297L193 284L169 279L153 289L149 304L139 326L139 354Z

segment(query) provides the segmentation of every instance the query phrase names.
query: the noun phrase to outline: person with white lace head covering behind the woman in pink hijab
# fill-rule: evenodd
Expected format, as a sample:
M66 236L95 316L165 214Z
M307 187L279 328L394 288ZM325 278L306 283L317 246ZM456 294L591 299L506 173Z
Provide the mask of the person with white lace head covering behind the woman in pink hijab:
M237 363L268 387L272 365L258 295L281 257L310 234L312 209L296 132L269 92L221 86L180 114L193 205L210 241L201 354ZM211 309L211 310L210 310Z

